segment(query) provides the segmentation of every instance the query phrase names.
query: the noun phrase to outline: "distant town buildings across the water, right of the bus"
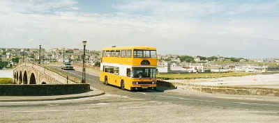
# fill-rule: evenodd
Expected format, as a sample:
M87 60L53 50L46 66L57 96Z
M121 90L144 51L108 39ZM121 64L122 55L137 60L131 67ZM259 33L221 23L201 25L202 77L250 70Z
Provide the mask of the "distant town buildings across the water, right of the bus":
M165 55L158 56L158 72L167 72L167 65L170 65L171 72L266 72L267 66L250 65L250 59L245 58L225 58L222 56L187 56L193 58L194 63L181 61L181 56ZM202 58L202 59L201 59ZM260 62L278 62L279 59L262 59ZM218 62L218 63L216 63ZM259 59L257 59L259 62Z

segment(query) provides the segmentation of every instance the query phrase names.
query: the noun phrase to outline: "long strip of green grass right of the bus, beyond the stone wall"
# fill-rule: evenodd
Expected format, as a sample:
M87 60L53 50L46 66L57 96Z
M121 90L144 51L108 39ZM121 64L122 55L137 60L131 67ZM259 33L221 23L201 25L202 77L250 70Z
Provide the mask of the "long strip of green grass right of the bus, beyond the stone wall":
M158 79L211 79L229 76L248 76L248 72L227 72L227 73L186 73L186 74L157 74Z

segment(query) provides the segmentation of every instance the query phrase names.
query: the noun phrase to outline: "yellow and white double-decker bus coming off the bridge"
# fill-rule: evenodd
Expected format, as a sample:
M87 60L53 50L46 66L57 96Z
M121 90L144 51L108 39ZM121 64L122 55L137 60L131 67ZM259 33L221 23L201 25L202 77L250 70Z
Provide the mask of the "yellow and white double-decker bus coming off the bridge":
M100 81L123 90L156 90L154 47L108 47L102 51Z

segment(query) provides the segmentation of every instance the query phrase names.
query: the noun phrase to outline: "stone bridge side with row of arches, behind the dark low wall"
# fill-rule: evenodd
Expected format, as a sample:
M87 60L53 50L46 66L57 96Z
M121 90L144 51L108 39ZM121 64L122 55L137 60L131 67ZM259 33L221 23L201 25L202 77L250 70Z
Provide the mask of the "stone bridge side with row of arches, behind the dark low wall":
M48 68L48 69L47 69ZM17 84L66 84L80 83L69 80L61 73L54 72L50 67L36 63L20 63L13 69L13 77Z

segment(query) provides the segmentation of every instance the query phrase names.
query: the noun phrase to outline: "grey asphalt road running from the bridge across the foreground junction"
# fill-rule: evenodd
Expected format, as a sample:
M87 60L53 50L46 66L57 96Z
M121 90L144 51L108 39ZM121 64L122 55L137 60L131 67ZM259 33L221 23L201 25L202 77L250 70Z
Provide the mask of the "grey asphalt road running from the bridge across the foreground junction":
M81 72L65 72L82 77ZM279 122L276 102L218 99L164 90L129 92L103 85L97 76L86 77L93 88L105 90L106 95L0 103L0 122Z

